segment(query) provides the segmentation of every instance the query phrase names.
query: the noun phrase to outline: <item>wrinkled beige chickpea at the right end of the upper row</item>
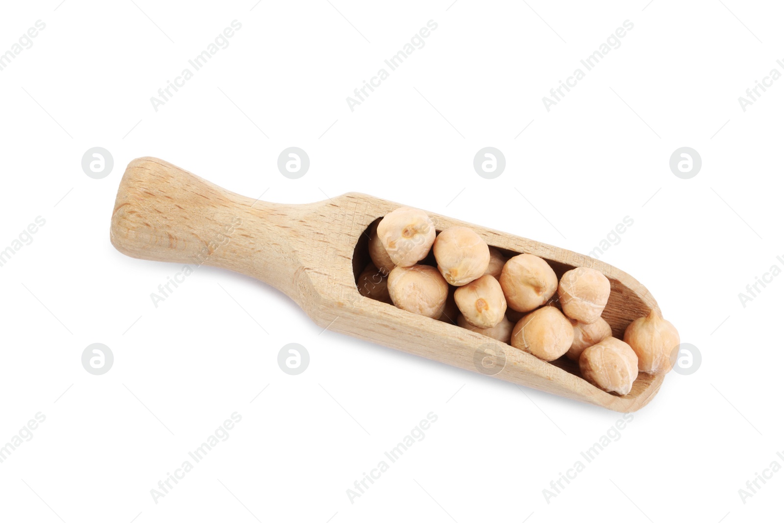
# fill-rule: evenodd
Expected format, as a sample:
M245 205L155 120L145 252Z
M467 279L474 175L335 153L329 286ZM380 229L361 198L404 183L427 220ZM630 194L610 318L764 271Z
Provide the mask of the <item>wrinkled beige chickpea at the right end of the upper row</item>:
M598 321L609 297L610 281L590 267L564 272L558 284L558 299L564 314L581 323Z

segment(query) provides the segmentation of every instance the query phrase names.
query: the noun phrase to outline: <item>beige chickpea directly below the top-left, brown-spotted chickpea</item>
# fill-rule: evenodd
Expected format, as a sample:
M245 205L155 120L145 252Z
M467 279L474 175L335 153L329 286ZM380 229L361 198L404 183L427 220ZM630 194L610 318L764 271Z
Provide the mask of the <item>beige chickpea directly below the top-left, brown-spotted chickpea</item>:
M435 319L444 312L449 292L444 277L430 265L395 267L387 288L395 307Z

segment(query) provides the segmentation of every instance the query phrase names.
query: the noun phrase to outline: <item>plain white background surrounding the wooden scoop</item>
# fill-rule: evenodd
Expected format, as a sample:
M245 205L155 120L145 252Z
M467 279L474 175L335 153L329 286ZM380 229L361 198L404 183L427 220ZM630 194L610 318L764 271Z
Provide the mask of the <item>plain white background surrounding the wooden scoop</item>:
M781 518L784 472L746 503L738 491L784 465L784 277L746 307L738 295L784 267L784 79L745 112L738 97L784 72L784 13L645 1L5 5L0 52L46 27L0 71L0 249L37 216L45 226L0 267L0 445L36 412L45 422L0 463L0 519ZM154 111L232 20L227 49ZM426 45L350 111L346 97L428 20ZM622 45L546 111L542 97L624 20ZM276 166L290 146L310 156L299 180ZM472 165L486 146L506 156L494 180ZM684 146L702 156L690 180L669 168ZM90 147L113 155L102 180L82 172ZM360 191L583 253L630 216L601 259L651 290L702 366L668 376L547 503L543 488L621 415L321 332L280 292L211 267L154 307L180 266L122 256L108 236L125 165L145 155L270 202ZM90 343L114 353L103 376L82 368ZM310 353L299 376L278 368L286 343ZM230 438L154 503L232 412ZM423 441L350 503L428 412Z

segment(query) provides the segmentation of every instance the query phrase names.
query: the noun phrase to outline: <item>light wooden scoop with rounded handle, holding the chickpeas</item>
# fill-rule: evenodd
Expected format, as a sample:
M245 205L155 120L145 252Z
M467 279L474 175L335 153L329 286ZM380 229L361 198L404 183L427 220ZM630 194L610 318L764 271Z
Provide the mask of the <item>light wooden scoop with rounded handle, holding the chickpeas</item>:
M365 231L400 206L358 193L304 205L260 202L157 158L138 158L120 182L111 243L135 258L248 274L285 292L321 327L362 340L619 412L635 411L651 401L663 375L641 372L630 394L608 394L583 380L575 362L566 358L542 361L477 332L361 296L357 278L369 261ZM601 271L612 285L602 316L616 337L622 338L634 319L659 311L648 289L607 263L429 214L438 231L470 227L506 256L541 256L558 278L574 267ZM495 361L490 370L488 358Z

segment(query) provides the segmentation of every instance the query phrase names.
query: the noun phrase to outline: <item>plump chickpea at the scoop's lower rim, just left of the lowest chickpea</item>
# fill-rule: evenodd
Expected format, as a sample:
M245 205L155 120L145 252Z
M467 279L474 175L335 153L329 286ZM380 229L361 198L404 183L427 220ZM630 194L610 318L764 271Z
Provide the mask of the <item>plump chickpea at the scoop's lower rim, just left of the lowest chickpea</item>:
M544 361L561 358L572 347L572 323L555 307L542 307L525 314L512 330L513 347Z

